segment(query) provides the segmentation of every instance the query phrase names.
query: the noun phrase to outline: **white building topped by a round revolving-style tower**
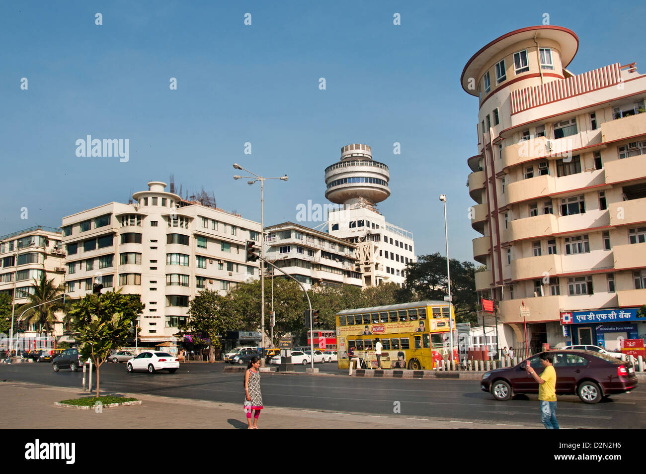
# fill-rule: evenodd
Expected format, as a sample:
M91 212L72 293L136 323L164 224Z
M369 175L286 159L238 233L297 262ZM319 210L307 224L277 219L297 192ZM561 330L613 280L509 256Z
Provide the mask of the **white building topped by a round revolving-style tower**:
M364 286L406 281L406 264L415 261L413 234L389 224L375 204L390 196L390 171L372 159L370 146L345 145L341 158L325 170L326 198L342 204L328 212L329 235L357 245Z

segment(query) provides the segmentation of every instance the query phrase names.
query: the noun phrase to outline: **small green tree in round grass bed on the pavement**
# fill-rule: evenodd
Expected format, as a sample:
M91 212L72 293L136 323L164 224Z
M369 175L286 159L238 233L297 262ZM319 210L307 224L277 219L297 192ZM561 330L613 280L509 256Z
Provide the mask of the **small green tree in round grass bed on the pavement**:
M145 305L139 295L123 295L121 289L105 294L89 294L72 305L68 320L79 344L81 360L92 360L96 367L96 396L99 396L101 365L110 354L125 344L133 321Z

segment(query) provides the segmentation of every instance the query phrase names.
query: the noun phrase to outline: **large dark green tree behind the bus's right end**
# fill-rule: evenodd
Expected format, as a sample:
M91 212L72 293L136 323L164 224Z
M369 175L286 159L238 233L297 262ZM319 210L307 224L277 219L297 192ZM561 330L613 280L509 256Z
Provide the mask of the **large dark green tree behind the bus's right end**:
M474 264L450 259L451 296L458 323L477 323L478 299L475 292ZM442 301L448 296L446 257L439 252L421 255L417 262L406 266L406 283L399 296L408 301L432 299Z

